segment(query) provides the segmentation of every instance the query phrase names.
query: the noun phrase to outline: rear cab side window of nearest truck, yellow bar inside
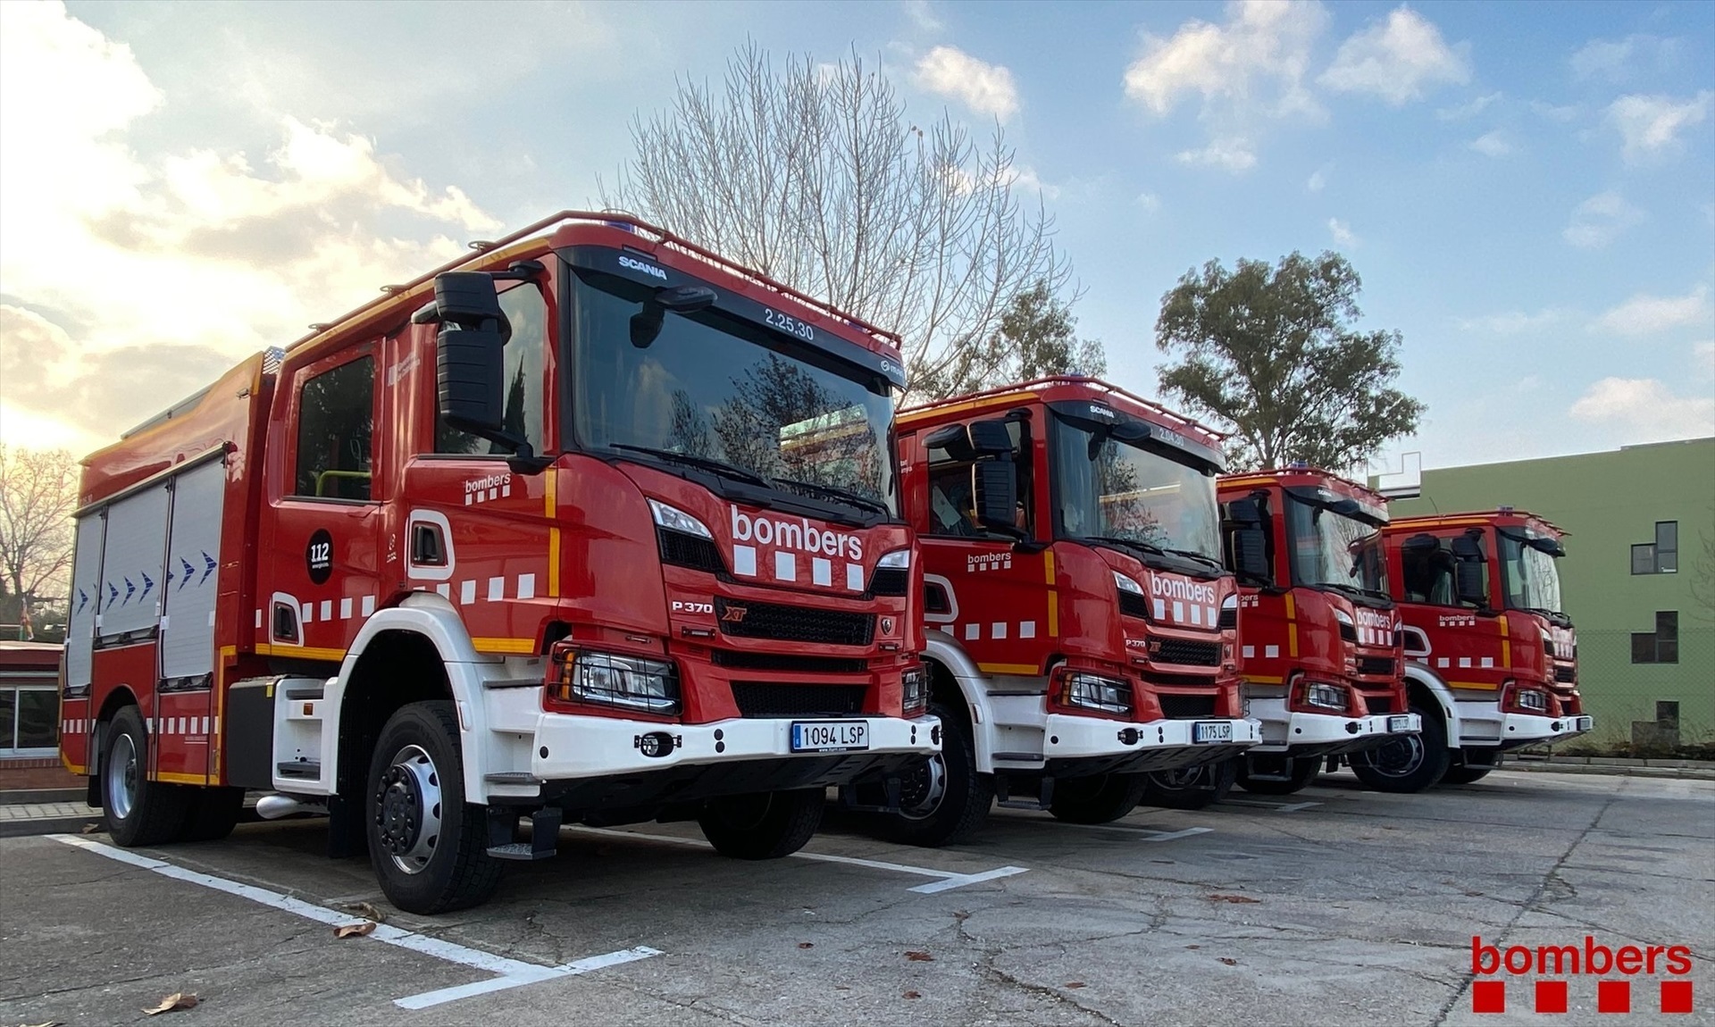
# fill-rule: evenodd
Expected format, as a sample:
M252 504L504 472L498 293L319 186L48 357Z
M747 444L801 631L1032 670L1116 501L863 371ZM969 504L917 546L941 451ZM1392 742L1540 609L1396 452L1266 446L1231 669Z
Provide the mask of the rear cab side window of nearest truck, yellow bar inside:
M370 499L376 358L324 370L298 391L295 495Z

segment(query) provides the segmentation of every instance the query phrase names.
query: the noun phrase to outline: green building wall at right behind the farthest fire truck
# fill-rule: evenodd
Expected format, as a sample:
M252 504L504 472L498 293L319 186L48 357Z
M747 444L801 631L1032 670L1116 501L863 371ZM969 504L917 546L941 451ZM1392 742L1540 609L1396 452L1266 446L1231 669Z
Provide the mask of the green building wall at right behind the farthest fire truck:
M1571 533L1561 598L1578 628L1585 712L1597 722L1580 741L1670 742L1672 708L1657 703L1677 703L1677 741L1715 744L1715 439L1425 470L1422 495L1389 509L1403 518L1497 506ZM1631 547L1653 542L1657 521L1679 525L1679 569L1633 574ZM1631 636L1653 633L1658 610L1679 614L1679 662L1633 664Z

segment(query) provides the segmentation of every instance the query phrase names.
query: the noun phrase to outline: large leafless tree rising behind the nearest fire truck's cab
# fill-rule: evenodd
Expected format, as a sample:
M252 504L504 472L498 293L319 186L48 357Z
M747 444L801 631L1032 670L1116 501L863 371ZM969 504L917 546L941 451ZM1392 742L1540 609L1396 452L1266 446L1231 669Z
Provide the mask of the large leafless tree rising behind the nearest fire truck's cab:
M777 70L749 43L724 94L679 82L631 141L602 204L897 331L918 403L1003 377L990 343L1014 297L1067 279L1000 125L981 147L945 111L919 127L856 53Z

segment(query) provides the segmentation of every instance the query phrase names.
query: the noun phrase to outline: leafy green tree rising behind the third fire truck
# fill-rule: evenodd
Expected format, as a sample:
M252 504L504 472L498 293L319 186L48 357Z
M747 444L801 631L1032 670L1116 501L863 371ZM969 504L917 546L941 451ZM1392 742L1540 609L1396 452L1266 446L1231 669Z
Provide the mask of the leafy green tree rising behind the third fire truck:
M1393 387L1399 333L1357 327L1360 288L1333 252L1187 271L1156 321L1156 346L1176 357L1158 369L1163 393L1231 427L1235 470L1358 468L1425 410Z

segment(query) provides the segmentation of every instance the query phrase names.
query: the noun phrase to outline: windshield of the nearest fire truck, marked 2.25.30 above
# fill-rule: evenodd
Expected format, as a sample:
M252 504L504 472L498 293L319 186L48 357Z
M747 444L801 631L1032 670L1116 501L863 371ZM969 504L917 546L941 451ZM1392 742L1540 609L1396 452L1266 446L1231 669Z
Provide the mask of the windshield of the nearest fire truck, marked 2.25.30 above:
M720 471L864 518L895 516L885 379L720 310L669 312L636 346L647 286L578 273L573 435L587 447Z

